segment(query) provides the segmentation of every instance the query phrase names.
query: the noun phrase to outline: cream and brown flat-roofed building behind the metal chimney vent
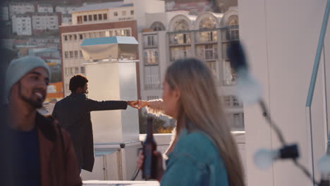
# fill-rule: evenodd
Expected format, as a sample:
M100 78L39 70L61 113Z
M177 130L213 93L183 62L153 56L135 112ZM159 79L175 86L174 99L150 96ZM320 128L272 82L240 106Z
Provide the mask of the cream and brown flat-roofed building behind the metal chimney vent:
M162 4L163 6L159 6ZM68 82L72 75L85 74L80 44L83 39L110 36L138 38L138 24L144 27L145 13L164 11L164 2L157 0L116 1L86 4L72 12L72 23L60 27L64 95L71 94Z

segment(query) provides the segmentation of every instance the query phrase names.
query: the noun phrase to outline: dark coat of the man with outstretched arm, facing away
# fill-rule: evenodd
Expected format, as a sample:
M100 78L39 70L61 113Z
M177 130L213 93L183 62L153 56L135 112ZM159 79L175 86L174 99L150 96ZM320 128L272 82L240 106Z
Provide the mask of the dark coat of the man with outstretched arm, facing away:
M72 93L55 104L52 116L68 130L82 169L92 172L94 142L90 111L127 109L126 101L94 101L85 94Z

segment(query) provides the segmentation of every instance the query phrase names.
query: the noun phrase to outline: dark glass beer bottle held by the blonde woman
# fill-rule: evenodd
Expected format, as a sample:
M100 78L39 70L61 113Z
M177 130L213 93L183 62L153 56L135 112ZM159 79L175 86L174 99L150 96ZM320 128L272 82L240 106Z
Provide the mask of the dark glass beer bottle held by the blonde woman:
M145 159L143 161L142 178L145 180L157 178L157 157L154 156L157 144L152 134L152 120L151 116L147 117L147 137L143 142L143 156L145 156Z

